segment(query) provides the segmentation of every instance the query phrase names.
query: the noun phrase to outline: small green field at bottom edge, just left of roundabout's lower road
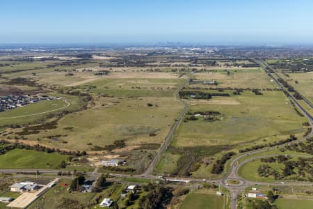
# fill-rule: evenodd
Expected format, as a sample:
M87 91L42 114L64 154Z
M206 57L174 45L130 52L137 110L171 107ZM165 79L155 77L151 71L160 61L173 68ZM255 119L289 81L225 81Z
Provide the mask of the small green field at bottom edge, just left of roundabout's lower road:
M223 196L216 194L191 193L186 196L181 209L222 209L224 208Z

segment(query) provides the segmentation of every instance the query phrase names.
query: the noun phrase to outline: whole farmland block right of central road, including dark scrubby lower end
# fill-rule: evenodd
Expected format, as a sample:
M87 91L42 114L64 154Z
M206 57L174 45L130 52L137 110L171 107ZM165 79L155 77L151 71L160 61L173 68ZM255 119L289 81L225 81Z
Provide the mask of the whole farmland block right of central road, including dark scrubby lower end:
M263 91L263 95L248 91L241 95L223 93L230 96L188 100L189 112L157 164L157 173L218 178L210 171L225 150L280 141L290 134L302 137L306 130L302 124L306 118L296 113L281 91ZM205 111L213 115L191 119L193 114Z

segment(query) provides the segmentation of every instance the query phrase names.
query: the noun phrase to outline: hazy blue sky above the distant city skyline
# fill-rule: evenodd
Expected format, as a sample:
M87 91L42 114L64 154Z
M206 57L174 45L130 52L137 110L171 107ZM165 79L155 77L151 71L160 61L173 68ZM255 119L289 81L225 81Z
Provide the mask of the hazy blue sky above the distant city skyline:
M312 0L1 0L0 43L313 43Z

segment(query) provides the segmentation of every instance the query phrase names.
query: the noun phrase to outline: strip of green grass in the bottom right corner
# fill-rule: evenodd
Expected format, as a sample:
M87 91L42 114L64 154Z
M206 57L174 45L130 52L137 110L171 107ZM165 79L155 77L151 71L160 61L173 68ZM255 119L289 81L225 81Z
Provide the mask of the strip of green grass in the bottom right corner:
M312 209L313 200L278 198L275 203L278 209Z

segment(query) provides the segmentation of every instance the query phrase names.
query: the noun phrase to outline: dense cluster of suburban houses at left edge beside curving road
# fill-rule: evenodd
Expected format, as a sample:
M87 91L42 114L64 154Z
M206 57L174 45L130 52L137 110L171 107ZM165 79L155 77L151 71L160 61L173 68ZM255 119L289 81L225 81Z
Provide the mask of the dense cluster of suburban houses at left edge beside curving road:
M24 107L42 100L53 100L53 98L47 95L5 95L0 98L0 111Z

